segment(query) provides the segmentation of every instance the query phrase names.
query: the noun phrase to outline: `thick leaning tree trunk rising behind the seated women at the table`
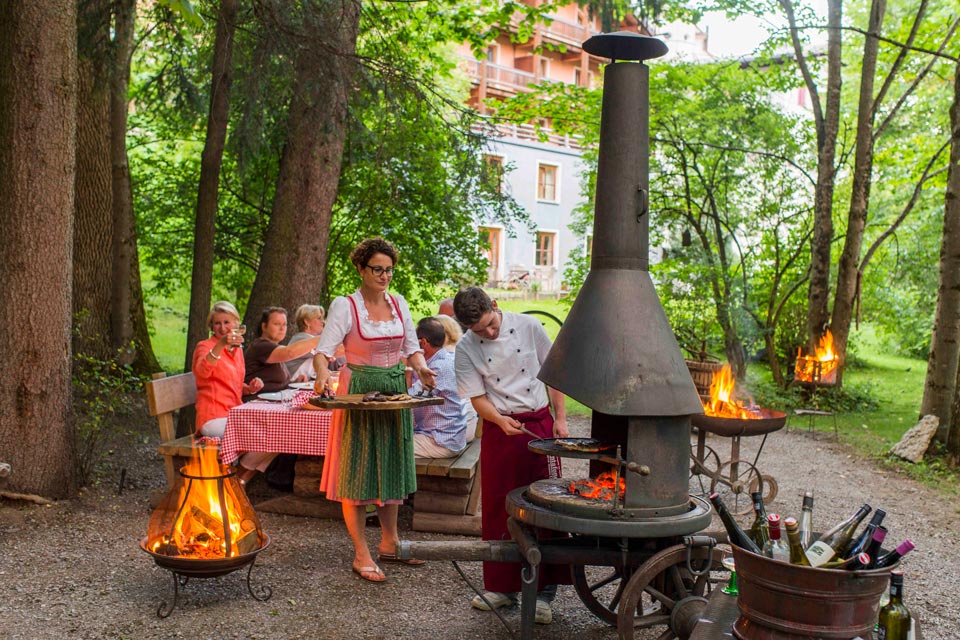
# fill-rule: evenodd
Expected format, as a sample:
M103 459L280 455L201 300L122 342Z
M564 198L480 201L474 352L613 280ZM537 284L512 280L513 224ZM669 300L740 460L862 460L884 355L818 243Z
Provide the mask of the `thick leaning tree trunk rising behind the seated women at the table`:
M316 15L304 20L306 33L295 66L286 146L245 314L251 327L263 307L279 304L292 310L304 303L316 304L326 282L360 2L328 0L304 6Z

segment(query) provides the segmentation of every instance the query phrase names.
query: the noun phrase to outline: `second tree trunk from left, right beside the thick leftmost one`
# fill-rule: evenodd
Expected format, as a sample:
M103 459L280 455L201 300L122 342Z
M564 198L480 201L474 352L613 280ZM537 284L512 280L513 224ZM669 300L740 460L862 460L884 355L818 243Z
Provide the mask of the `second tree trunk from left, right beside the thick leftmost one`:
M113 279L110 174L112 0L78 4L77 168L73 231L73 348L109 358Z

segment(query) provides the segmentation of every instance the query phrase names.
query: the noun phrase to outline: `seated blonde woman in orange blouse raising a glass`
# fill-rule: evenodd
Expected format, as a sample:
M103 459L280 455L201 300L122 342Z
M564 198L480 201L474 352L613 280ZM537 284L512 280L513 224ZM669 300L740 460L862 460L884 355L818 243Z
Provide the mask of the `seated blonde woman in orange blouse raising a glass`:
M263 380L250 378L244 382L245 363L240 314L229 302L217 302L207 316L212 336L197 343L193 351L193 376L197 382L196 435L223 437L227 413L241 403L243 395L263 388ZM275 453L245 453L240 457L240 484L263 471Z

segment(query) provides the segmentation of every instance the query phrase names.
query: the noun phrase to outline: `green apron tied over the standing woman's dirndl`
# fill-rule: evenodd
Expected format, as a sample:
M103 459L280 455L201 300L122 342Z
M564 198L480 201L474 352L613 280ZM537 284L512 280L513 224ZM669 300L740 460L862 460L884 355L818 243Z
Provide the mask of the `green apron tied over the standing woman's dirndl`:
M394 367L349 365L349 393L406 393L403 363ZM350 411L344 413L337 493L350 500L403 500L417 490L413 457L413 413Z

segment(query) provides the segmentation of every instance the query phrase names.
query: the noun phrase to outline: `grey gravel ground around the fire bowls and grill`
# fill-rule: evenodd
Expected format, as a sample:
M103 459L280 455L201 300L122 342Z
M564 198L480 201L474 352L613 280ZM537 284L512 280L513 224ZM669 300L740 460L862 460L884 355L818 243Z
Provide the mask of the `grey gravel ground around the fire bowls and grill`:
M589 422L575 419L571 431L586 435ZM752 459L759 438L744 439ZM729 457L730 441L710 444ZM119 449L114 471L125 467L122 496L116 483L49 507L0 502L0 630L9 638L508 638L490 613L473 610L472 595L448 562L423 567L390 566L382 585L350 573L352 552L343 524L335 520L261 514L272 544L253 569L255 584L273 598L256 602L246 592L244 572L191 580L174 613L161 620L156 608L172 592L172 578L137 546L146 532L149 497L163 482L155 442ZM565 461L565 475L583 475L582 463ZM950 499L870 461L850 455L826 434L780 431L768 439L759 460L774 476L779 495L768 507L799 513L802 493L816 492L815 525L828 527L863 502L887 510L890 536L917 543L903 563L906 602L922 621L927 640L960 638L960 516ZM108 473L107 477L110 477ZM118 473L112 473L114 479ZM106 483L105 483L106 484ZM270 489L254 483L255 502ZM409 530L404 508L401 537L470 539ZM746 519L745 519L746 520ZM371 544L378 529L369 528ZM461 565L480 584L480 564ZM507 619L518 623L518 610ZM571 587L561 588L554 622L538 626L537 638L612 639L616 632L595 618ZM651 636L655 637L655 636Z

